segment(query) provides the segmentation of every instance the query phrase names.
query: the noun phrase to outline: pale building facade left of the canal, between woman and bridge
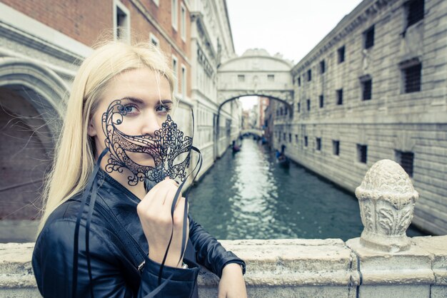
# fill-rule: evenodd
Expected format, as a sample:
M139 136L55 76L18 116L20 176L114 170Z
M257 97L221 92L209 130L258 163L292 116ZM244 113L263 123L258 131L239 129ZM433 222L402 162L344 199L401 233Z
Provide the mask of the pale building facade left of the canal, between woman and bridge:
M195 65L191 89L198 134L195 145L204 157L203 175L238 137L241 106L237 102L221 106L217 98L221 61L236 56L226 1L192 0L191 7L191 60Z

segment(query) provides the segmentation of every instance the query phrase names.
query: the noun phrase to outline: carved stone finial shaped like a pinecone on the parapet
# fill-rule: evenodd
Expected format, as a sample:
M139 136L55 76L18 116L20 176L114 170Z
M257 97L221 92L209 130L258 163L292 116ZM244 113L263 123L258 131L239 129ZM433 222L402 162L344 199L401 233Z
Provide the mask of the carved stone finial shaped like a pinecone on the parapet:
M406 229L413 219L418 192L401 165L380 160L366 173L356 197L360 205L362 245L376 250L408 250Z

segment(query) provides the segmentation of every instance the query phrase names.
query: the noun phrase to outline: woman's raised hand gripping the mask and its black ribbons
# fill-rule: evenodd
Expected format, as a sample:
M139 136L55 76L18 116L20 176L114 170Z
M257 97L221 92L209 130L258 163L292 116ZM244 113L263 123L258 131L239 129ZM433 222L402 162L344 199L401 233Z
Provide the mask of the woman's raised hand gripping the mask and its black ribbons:
M163 262L172 231L171 205L179 185L169 178L157 183L136 207L144 235L149 244L149 259ZM181 267L181 237L183 232L185 198L177 200L174 210L174 234L166 257L166 266ZM186 224L186 242L189 222ZM185 245L186 247L186 245Z

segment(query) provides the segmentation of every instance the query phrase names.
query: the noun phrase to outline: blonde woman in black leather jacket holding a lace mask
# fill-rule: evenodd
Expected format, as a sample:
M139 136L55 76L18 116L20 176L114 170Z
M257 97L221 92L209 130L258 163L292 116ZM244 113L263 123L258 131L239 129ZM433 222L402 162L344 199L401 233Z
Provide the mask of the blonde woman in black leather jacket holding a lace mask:
M187 216L171 179L189 156L164 169L174 149L153 146L175 126L167 65L149 43L115 42L79 68L32 259L44 297L198 297L196 262L221 277L219 297L246 297L245 264Z

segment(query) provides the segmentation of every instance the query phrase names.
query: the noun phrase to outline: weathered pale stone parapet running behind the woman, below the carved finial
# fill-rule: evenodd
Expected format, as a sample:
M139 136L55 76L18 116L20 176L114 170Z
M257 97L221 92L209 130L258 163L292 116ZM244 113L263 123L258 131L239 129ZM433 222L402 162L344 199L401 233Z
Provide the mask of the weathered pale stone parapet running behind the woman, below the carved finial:
M447 236L413 237L405 252L368 250L359 238L224 240L246 261L248 297L446 297ZM34 243L0 245L0 297L40 297ZM199 296L217 297L218 277L199 275Z

